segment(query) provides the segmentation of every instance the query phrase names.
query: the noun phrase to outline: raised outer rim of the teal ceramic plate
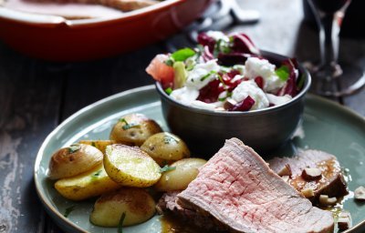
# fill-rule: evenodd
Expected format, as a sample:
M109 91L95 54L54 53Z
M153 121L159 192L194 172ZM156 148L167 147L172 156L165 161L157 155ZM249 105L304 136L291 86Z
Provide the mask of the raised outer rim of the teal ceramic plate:
M42 186L41 186L40 179L38 178L37 171L39 170L40 163L41 163L42 158L43 158L43 154L44 154L43 152L44 152L45 148L47 147L47 144L49 143L51 138L54 137L57 134L57 132L62 129L62 127L64 127L65 125L68 125L69 122L72 122L72 120L74 120L75 118L77 118L78 116L80 116L82 114L85 114L86 112L90 111L91 109L93 109L96 106L104 105L105 103L107 103L111 100L114 100L116 98L120 98L122 96L129 96L129 95L132 95L134 93L138 93L138 92L142 92L142 91L151 91L152 89L155 89L155 85L139 86L139 87L136 87L136 88L132 88L132 89L129 89L129 90L114 94L112 96L107 96L105 98L102 98L99 101L90 104L89 106L84 106L81 109L79 109L77 112L75 112L74 114L72 114L71 116L66 118L64 121L62 121L61 124L59 124L57 127L55 127L47 135L46 139L43 141L41 147L39 147L38 152L36 153L36 160L35 160L34 169L33 169L33 181L34 181L35 186L36 186L36 194L37 194L38 198L42 202L43 207L47 210L47 214L51 218L53 218L53 220L58 225L58 227L62 228L63 230L66 230L66 227L62 227L62 226L59 225L60 221L63 221L64 224L68 224L68 227L74 228L74 229L78 230L79 232L85 232L85 233L89 232L89 231L85 230L84 228L79 227L76 223L72 222L68 218L65 218L56 208L54 208L52 206L52 204L49 202L48 198L46 197L46 194L41 191ZM324 103L328 106L339 108L342 112L346 113L350 117L355 117L357 120L362 121L362 122L365 123L365 117L360 116L360 114L358 114L357 112L355 112L352 109L349 109L349 107L347 107L347 106L341 106L337 102L334 102L334 101L329 100L325 97L317 96L317 95L314 95L314 94L311 94L311 93L308 93L306 95L306 100L308 100L308 99L310 99L312 101L318 100L319 102L322 102L322 103ZM58 217L58 219L55 219L55 217ZM364 227L364 225L365 225L365 219L360 221L360 223L353 226L352 228L349 228L348 230L342 231L342 233L356 232L360 228Z

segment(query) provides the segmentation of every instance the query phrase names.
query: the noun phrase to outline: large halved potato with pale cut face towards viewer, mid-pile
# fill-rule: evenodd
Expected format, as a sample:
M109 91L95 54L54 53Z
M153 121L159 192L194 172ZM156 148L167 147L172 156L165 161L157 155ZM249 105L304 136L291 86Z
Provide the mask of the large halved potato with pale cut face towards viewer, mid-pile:
M130 187L150 187L161 177L160 166L140 147L110 145L104 167L115 182Z

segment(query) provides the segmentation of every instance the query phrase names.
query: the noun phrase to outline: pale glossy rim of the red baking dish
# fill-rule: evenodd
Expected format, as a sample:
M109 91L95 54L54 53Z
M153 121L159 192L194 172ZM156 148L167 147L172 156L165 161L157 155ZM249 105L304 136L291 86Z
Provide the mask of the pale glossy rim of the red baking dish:
M0 5L0 20L15 21L17 23L23 23L26 25L37 25L55 27L57 25L66 25L70 28L85 27L90 25L107 25L120 21L134 20L135 18L145 15L153 14L158 11L163 11L166 8L179 5L189 0L165 0L155 5L143 7L141 9L133 10L123 13L120 16L102 17L102 18L88 18L88 19L67 19L59 15L44 15L37 13L27 13L14 9L9 9L4 5Z

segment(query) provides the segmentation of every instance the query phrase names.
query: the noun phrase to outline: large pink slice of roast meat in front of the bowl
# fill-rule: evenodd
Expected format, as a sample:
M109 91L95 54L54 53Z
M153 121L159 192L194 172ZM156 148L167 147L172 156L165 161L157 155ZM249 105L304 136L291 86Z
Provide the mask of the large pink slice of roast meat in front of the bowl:
M177 203L230 232L333 232L329 211L312 207L237 138L226 140Z

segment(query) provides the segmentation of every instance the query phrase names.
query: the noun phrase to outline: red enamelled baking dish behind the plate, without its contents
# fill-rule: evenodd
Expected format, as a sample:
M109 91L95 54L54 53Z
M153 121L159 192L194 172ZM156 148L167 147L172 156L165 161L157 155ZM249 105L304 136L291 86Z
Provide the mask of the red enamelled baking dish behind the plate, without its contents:
M0 38L16 50L52 61L83 61L162 40L203 14L214 0L166 0L116 18L68 20L0 6Z

